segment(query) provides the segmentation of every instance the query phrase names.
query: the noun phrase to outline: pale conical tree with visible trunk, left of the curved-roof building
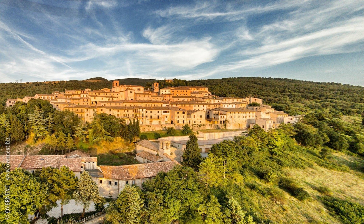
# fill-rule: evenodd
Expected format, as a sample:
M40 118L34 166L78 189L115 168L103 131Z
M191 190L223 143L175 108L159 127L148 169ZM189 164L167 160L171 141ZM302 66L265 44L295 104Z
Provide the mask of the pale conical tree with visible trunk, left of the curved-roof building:
M73 194L76 204L83 205L82 218L85 215L86 209L90 207L91 201L97 204L100 201L100 197L97 184L91 179L87 171L83 171L77 183L76 191Z

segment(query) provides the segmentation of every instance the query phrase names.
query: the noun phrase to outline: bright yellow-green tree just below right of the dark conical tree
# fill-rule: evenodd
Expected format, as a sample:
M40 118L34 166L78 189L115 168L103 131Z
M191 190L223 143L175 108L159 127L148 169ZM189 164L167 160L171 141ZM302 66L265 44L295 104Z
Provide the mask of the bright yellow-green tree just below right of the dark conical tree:
M209 156L199 164L199 178L205 183L206 188L217 187L221 183L224 174L221 158L209 153Z

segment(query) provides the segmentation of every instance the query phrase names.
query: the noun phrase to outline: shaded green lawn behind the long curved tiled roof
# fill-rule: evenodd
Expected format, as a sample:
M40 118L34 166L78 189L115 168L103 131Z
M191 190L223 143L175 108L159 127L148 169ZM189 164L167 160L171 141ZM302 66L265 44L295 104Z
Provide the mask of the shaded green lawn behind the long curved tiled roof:
M122 166L130 164L138 164L139 162L134 159L135 154L133 153L105 153L97 155L98 165L103 166Z

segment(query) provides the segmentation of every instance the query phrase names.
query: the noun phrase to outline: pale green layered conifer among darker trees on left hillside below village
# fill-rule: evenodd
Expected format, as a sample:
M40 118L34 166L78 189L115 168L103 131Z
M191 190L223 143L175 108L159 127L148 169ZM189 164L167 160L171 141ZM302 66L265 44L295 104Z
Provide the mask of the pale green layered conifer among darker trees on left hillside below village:
M35 134L35 139L41 139L47 135L47 121L41 114L39 107L34 107L34 113L29 114L28 122L31 125L31 130Z

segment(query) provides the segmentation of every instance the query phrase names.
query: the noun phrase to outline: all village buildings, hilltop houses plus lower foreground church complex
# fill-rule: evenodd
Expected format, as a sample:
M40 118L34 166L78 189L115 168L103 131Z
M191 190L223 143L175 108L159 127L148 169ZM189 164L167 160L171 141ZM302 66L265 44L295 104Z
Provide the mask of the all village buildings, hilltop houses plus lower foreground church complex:
M143 86L119 85L100 90L65 90L52 94L35 94L33 97L7 99L11 107L17 101L30 99L49 101L56 110L70 110L85 122L91 122L95 113L106 113L124 118L127 123L138 119L141 131L156 131L163 127L181 129L189 125L194 130L227 129L229 132L199 133L198 145L206 157L213 144L232 140L246 128L257 124L265 131L280 123L296 123L301 115L289 116L262 104L262 99L222 98L212 95L207 87L181 86L151 90ZM98 184L100 195L116 198L126 184L142 183L154 178L158 172L167 172L182 162L188 136L171 136L158 140L141 140L135 143L136 159L141 164L124 166L98 166L97 158L75 150L66 155L13 155L11 169L23 168L31 173L43 167L67 166L77 177L88 171ZM7 157L0 156L5 163Z

